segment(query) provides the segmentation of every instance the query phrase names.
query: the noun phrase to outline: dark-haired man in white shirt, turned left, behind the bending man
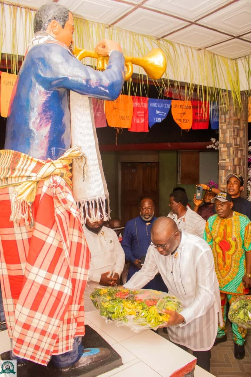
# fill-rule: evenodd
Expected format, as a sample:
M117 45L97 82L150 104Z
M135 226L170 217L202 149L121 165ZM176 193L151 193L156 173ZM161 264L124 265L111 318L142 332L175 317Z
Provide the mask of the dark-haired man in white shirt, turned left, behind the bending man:
M196 234L203 237L206 222L196 212L188 207L187 194L182 190L175 190L170 194L171 212L168 217L173 219L178 225L179 230L185 230L187 233Z

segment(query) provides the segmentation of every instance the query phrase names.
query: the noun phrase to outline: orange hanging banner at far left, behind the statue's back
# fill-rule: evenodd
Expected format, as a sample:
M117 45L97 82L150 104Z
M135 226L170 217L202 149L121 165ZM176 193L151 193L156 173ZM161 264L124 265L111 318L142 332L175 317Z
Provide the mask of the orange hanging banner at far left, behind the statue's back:
M11 75L6 72L1 74L1 87L0 87L0 109L1 116L7 118L9 110L9 102L11 100L11 93L14 88L17 75Z

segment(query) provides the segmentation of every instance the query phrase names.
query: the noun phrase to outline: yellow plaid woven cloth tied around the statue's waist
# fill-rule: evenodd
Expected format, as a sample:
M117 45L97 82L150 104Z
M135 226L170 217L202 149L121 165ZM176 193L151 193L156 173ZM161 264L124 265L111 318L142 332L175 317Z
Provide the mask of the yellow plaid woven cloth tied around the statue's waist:
M31 204L39 181L58 175L72 188L70 164L73 159L77 159L83 169L86 159L79 146L68 149L57 160L40 160L15 150L0 150L0 189L15 186L10 221L17 224L23 218L26 225L31 223Z

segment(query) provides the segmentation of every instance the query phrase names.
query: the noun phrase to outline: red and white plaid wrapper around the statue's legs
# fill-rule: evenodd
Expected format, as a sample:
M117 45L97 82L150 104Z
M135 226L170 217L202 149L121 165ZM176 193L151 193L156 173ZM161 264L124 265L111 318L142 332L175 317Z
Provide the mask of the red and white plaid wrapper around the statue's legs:
M18 161L17 161L18 162ZM10 167L11 169L11 167ZM14 353L47 365L84 336L90 251L72 191L60 175L37 184L34 226L10 221L17 186L0 189L0 280Z

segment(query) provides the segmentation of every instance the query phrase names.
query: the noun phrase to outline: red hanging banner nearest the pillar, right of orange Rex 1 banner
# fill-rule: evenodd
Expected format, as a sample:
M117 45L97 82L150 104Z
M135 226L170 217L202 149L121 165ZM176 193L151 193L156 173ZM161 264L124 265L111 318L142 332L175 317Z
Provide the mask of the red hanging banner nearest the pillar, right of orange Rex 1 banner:
M193 107L193 130L207 130L209 126L209 103L192 101Z

